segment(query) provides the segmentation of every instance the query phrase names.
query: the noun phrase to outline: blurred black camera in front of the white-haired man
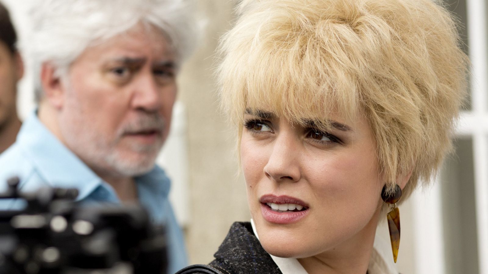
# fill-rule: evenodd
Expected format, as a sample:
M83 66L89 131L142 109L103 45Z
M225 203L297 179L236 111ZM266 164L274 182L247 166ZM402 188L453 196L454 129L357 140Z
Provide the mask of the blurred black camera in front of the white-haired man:
M21 193L8 180L0 199L21 209L0 211L0 274L164 274L163 226L141 206L81 205L77 189Z

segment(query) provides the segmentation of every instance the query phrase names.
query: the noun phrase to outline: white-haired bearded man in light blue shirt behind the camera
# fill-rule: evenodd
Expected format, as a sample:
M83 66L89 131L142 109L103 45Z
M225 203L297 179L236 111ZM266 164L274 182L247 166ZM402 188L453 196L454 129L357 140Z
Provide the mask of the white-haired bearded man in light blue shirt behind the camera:
M168 273L186 265L155 158L169 131L175 75L193 25L183 0L45 0L24 49L37 110L0 157L22 191L78 188L81 202L137 201L168 235Z

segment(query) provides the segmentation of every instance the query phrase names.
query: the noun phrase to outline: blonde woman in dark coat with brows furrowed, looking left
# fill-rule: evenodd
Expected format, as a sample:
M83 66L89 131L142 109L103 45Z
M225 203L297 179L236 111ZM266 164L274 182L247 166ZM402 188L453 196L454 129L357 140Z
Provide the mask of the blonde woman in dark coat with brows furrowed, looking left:
M449 13L432 0L243 0L238 14L218 76L253 223L235 223L210 266L397 273L397 206L451 149L463 99ZM391 249L375 242L380 221Z

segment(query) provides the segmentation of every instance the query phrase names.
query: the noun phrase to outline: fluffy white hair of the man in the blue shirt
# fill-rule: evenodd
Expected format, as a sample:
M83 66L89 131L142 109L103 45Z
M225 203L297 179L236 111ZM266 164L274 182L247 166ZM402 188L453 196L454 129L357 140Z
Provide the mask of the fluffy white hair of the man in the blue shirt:
M22 44L34 70L35 97L43 97L41 66L58 74L93 42L124 33L142 22L161 30L180 64L193 49L196 24L187 0L36 0L30 11L32 34Z

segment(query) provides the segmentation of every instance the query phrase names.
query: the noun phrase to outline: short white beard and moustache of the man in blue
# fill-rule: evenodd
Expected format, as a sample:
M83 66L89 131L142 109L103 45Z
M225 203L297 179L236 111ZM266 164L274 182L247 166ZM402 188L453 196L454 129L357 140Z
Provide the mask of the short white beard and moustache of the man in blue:
M96 126L93 127L96 122L89 120L89 117L84 115L67 76L64 76L63 79L64 84L68 87L64 107L69 109L69 113L60 117L58 122L65 144L76 156L99 176L138 176L154 168L156 157L163 147L164 132L169 127L164 117L158 113L142 112L138 114L136 119L119 125L118 132L112 133L115 136L103 136L97 131ZM137 132L148 128L161 130L162 135L159 136L159 140L152 145L131 143L129 145L131 154L139 153L139 157L134 159L124 156L120 148L118 149L118 144L124 133ZM127 147L125 148L127 150Z

